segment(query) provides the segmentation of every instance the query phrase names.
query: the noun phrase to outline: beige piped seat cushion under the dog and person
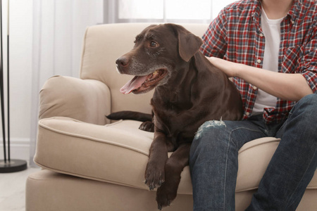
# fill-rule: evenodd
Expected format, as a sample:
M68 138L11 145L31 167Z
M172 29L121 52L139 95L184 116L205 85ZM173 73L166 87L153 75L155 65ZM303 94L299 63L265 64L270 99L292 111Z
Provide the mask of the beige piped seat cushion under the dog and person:
M44 169L135 188L144 184L153 133L139 130L141 122L124 120L104 126L68 117L39 120L35 162ZM245 144L239 153L236 191L256 189L279 139ZM178 193L192 194L189 167L181 175ZM311 187L317 186L316 175Z

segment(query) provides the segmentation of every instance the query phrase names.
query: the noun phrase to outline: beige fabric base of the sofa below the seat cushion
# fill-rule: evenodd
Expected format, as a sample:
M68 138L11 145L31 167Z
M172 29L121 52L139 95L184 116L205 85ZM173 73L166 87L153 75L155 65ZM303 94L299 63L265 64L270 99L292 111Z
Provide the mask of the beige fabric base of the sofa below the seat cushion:
M156 192L93 179L82 179L49 170L31 174L26 182L27 211L152 211ZM254 191L235 195L236 210L244 210ZM316 191L306 190L297 210L316 210ZM191 211L192 196L178 194L165 211Z

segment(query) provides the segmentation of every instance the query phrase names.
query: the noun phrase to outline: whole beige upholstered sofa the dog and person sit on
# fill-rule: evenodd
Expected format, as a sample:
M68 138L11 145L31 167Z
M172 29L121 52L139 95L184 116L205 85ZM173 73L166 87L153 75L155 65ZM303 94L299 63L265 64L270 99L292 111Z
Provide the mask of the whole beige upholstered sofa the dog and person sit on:
M156 191L144 184L153 134L140 122L109 122L118 110L151 112L153 92L120 94L130 76L116 72L116 58L132 49L135 36L149 24L97 25L87 28L80 79L56 76L40 92L35 162L42 167L26 184L26 210L157 210ZM208 25L187 24L199 37ZM257 139L240 150L236 210L244 210L256 191L279 139ZM316 210L317 175L298 210ZM178 196L164 210L192 210L189 167L182 172Z

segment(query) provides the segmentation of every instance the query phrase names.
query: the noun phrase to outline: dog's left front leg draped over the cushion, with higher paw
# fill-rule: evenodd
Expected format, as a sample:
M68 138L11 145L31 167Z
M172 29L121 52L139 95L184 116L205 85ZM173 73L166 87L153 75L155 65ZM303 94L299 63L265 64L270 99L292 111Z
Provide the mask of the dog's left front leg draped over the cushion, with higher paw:
M150 190L161 186L165 181L165 163L168 159L166 135L162 132L154 132L154 141L149 150L149 162L145 170L145 184Z

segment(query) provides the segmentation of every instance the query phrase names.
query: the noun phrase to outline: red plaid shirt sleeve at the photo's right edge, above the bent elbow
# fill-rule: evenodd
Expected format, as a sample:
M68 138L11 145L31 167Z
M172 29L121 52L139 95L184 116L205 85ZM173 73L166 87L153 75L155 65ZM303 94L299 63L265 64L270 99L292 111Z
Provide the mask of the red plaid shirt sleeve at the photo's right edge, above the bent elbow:
M317 93L317 25L313 26L311 39L304 47L300 69L313 93Z

